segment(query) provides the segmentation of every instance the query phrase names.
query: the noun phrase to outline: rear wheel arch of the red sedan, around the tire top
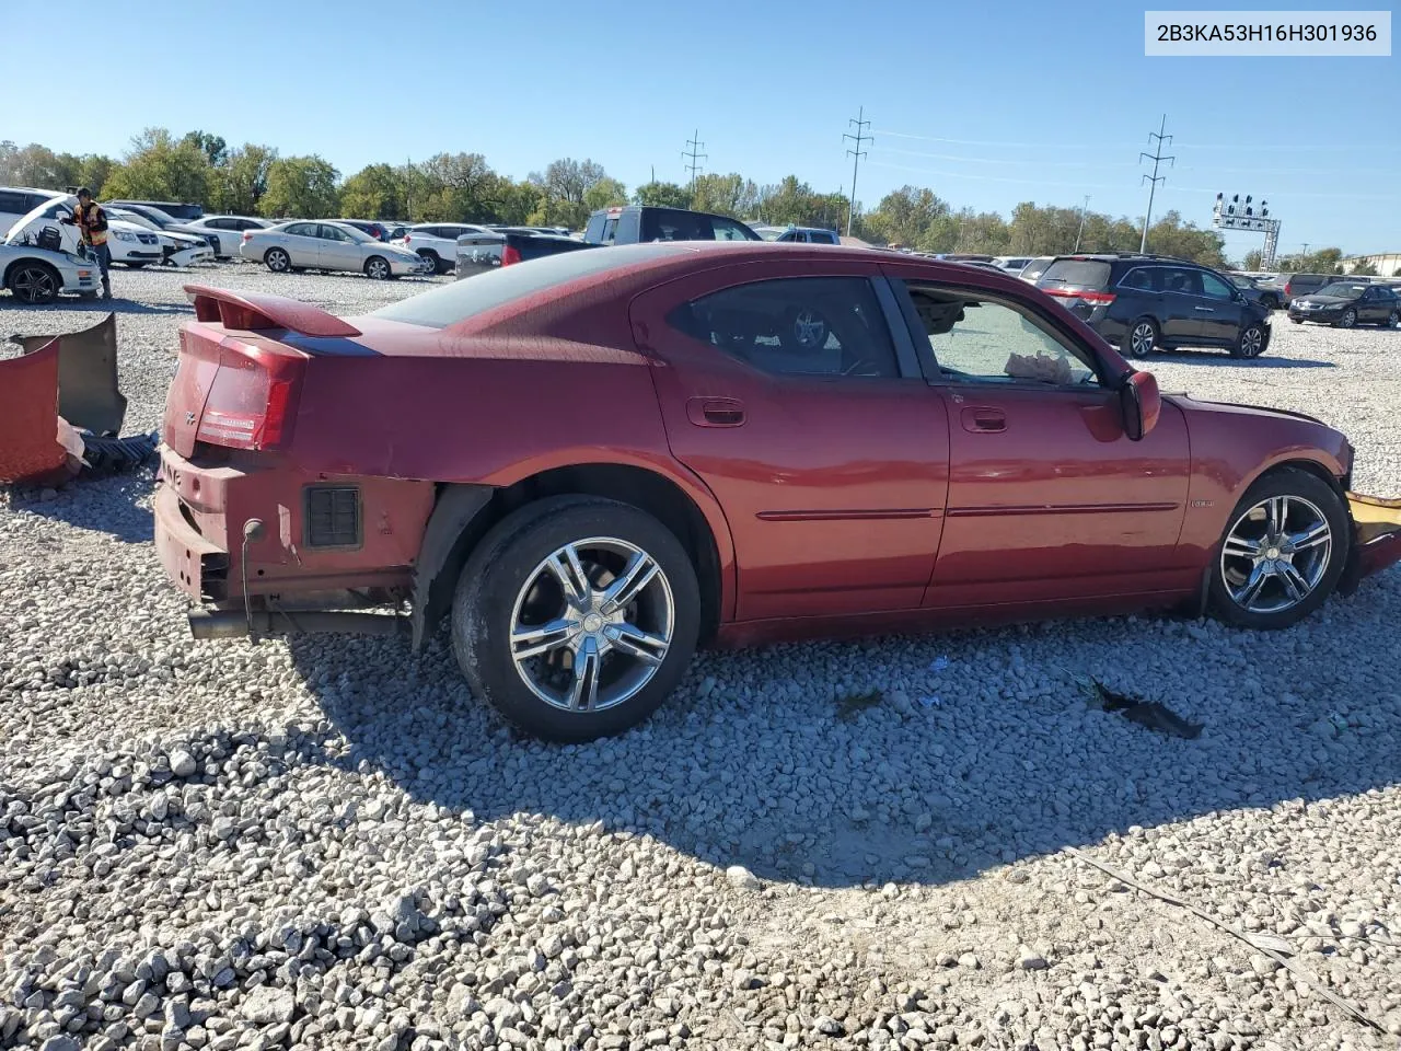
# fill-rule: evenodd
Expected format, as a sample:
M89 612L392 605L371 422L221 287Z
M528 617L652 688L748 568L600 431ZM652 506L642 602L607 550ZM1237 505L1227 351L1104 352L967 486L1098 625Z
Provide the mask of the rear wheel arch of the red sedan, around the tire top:
M488 530L518 507L549 496L600 496L661 521L691 556L700 584L700 639L710 640L734 608L734 547L719 503L699 482L651 467L566 464L503 485L444 483L415 565L412 645L419 650L447 614L457 577Z

